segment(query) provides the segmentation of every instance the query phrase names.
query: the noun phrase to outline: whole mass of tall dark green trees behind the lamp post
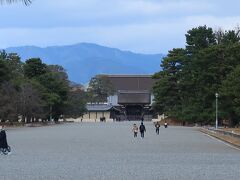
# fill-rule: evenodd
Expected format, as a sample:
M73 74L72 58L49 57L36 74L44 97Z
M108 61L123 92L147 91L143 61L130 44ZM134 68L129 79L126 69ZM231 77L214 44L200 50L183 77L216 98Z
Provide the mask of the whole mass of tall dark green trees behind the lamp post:
M231 126L240 122L240 29L217 30L200 26L186 33L186 47L174 48L154 74L154 108L168 117L190 123L219 118Z

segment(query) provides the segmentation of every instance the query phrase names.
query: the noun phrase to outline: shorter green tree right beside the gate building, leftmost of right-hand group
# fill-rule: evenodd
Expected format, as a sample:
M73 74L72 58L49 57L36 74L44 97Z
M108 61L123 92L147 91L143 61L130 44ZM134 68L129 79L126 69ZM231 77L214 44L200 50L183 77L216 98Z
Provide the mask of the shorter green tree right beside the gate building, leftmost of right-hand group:
M156 73L153 78L158 79L154 86L155 108L160 113L169 117L178 118L181 113L180 81L181 71L186 61L184 49L173 49L162 61L162 71Z

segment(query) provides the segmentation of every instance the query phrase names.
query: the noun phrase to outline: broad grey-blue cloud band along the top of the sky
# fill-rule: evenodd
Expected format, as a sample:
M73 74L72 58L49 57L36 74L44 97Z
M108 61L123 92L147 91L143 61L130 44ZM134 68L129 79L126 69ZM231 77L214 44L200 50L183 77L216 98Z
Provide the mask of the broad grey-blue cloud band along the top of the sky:
M0 27L84 27L169 21L210 12L204 1L153 0L42 0L32 6L0 7Z

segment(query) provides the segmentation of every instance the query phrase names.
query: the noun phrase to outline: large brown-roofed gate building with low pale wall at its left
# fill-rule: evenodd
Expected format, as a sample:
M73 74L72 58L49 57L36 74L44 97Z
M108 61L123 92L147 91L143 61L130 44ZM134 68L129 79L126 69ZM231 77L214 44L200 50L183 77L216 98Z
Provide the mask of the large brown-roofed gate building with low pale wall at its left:
M101 104L88 104L84 120L136 121L152 120L154 96L152 88L156 80L151 75L106 75L115 94Z

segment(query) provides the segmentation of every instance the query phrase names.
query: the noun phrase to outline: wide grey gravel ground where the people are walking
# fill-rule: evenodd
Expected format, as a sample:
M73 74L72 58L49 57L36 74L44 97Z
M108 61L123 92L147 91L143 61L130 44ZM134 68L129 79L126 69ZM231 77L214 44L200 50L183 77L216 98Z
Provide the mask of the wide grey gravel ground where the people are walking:
M197 128L132 122L74 123L7 131L12 154L0 155L1 180L239 180L240 151ZM139 122L138 122L139 124Z

